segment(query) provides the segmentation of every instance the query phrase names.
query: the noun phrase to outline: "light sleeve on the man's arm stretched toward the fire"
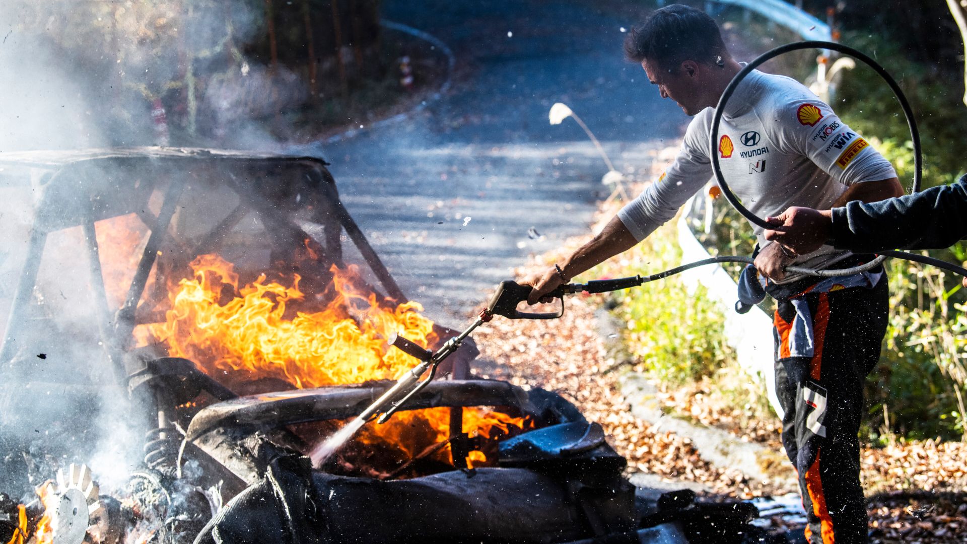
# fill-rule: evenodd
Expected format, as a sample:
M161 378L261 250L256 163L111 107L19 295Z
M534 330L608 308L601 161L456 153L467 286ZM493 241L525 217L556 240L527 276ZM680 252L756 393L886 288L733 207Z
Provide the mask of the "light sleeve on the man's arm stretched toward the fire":
M674 163L618 212L618 219L639 242L675 217L682 204L712 177L706 150L711 121L708 113L706 110L692 119Z

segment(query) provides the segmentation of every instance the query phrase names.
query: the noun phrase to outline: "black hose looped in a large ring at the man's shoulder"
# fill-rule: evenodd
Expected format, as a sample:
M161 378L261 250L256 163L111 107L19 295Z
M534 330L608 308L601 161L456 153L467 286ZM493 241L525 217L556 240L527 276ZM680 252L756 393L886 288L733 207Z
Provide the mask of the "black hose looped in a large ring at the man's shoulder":
M718 127L721 124L722 114L725 111L725 105L728 103L729 99L735 93L735 90L739 87L739 84L751 73L753 70L761 66L768 60L771 60L778 55L788 53L790 51L796 51L799 49L831 49L850 55L864 62L867 66L872 68L887 84L890 89L894 92L896 100L900 103L900 107L903 109L903 115L906 117L907 126L910 128L910 137L913 140L913 152L914 152L914 177L913 177L913 187L911 188L912 193L917 193L920 191L921 181L923 179L923 149L920 142L920 131L917 130L917 122L913 117L913 109L910 107L910 103L907 102L906 96L903 94L902 89L900 89L899 84L893 76L890 75L882 66L879 65L875 60L869 58L864 52L854 49L853 47L847 45L836 44L834 42L823 42L823 41L807 41L807 42L795 42L792 44L779 45L773 49L762 53L755 58L752 62L748 63L735 77L729 81L729 84L725 87L722 92L721 98L718 99L718 105L716 106L715 116L712 120L712 130L709 139L709 152L712 157L712 171L715 173L716 181L718 182L718 187L722 191L722 195L725 199L732 204L739 213L741 213L749 222L754 225L763 228L772 228L774 225L769 224L766 220L756 216L750 212L746 206L739 201L739 198L732 193L729 188L728 183L725 182L725 176L722 175L721 166L719 165L718 159ZM967 276L967 269L960 266L956 266L949 262L939 260L932 257L923 257L915 254L910 254L906 252L889 251L880 252L880 256L875 259L862 264L860 266L853 266L851 268L839 268L831 270L815 270L811 268L803 268L799 266L787 266L786 270L795 274L806 274L809 276L820 276L824 278L834 277L834 276L850 276L852 274L857 274L859 272L864 272L876 266L879 266L887 257L897 257L905 258L907 260L914 260L917 262L923 262L926 264L931 264L945 270L949 270L961 276ZM733 262L747 262L747 257L727 257L728 260ZM700 261L704 262L704 261ZM720 261L719 261L720 262ZM689 266L690 267L690 266ZM681 268L681 267L680 267ZM675 269L677 270L677 269Z

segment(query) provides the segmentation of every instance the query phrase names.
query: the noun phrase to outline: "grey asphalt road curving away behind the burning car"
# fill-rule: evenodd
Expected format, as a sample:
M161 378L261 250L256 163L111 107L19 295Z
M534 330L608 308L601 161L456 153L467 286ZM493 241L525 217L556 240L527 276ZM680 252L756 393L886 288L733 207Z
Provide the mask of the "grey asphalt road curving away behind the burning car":
M552 104L571 106L631 175L688 122L624 60L634 21L591 2L396 0L384 16L454 49L453 87L318 151L403 292L444 324L462 326L529 254L587 233L607 194L601 157L572 119L548 123Z

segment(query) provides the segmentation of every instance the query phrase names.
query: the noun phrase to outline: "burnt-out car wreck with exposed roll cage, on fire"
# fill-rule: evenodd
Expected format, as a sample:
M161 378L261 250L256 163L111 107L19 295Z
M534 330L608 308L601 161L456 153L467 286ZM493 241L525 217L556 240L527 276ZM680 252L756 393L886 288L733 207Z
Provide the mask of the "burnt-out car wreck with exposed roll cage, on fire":
M739 542L747 503L635 490L556 393L470 339L385 424L308 455L456 333L308 157L5 154L0 543ZM349 242L349 243L347 243Z

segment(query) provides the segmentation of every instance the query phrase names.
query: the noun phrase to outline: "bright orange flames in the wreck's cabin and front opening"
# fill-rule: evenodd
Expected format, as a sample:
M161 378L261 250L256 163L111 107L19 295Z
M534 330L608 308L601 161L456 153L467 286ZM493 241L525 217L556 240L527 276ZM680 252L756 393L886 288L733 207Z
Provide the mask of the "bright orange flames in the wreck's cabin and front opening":
M263 274L240 288L233 265L219 256L198 257L191 268L193 278L182 280L170 293L165 322L147 329L167 344L171 356L195 361L220 379L277 378L299 388L396 379L416 360L389 348L387 338L398 333L424 348L436 340L433 322L420 315L420 304L381 303L356 266L330 269L330 286L321 297L309 297L329 301L315 312L297 310L308 304L298 274L292 275L289 287L267 282ZM142 335L139 343L146 342ZM483 408L463 413L463 431L488 438L497 430L507 434L511 426L519 430L529 424ZM423 450L417 442L439 443L448 437L449 410L431 408L401 412L386 425L366 426L357 439L389 442L412 458ZM445 454L441 448L435 457Z

